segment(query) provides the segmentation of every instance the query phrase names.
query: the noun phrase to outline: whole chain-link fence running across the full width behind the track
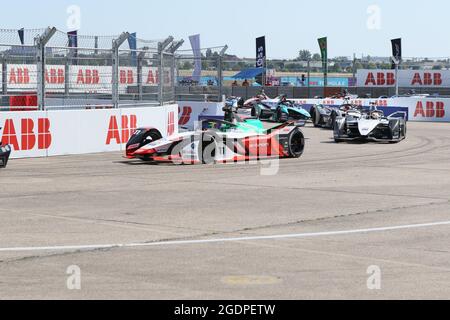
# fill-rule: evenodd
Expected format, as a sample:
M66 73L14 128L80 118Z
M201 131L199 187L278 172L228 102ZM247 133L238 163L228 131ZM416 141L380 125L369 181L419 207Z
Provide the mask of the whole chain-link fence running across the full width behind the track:
M251 97L264 89L270 96L392 96L395 88L359 88L360 69L391 69L389 57L322 61L255 60L226 54L227 47L177 50L173 38L139 39L135 34L76 36L54 28L0 29L0 110L118 108L163 105L175 101L222 101L223 96ZM132 41L130 41L132 40ZM131 45L134 43L134 45ZM449 70L450 58L403 58L402 70ZM250 70L246 73L245 71ZM244 72L243 72L244 71ZM253 72L253 73L252 73ZM400 88L400 94L411 88ZM417 93L449 95L450 88L418 88Z

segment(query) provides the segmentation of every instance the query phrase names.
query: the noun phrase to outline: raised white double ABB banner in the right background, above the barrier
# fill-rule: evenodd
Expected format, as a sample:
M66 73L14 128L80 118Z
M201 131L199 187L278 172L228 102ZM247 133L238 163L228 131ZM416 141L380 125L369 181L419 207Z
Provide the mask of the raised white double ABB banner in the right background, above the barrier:
M358 87L395 87L395 70L358 70ZM450 70L399 70L400 87L446 88L450 87Z

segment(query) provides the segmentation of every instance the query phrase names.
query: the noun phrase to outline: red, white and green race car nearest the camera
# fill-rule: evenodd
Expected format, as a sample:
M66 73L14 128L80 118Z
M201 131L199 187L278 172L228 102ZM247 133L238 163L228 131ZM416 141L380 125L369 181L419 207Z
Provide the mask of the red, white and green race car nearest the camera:
M196 131L162 138L154 128L140 128L130 138L126 157L175 164L212 164L264 158L299 158L305 138L295 122L265 129L256 118L242 119L235 102L224 107L225 120L203 120Z

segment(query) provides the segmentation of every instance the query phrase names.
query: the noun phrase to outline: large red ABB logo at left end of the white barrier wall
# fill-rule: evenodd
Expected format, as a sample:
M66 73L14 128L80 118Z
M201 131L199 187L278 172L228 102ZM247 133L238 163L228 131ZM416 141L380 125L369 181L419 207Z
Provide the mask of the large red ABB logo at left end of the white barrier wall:
M13 119L6 119L3 125L2 144L11 145L15 151L27 151L35 148L45 150L50 148L52 135L48 118L39 118L37 120L37 133L33 119L20 120L20 134L17 134L16 125L17 123L14 123Z

